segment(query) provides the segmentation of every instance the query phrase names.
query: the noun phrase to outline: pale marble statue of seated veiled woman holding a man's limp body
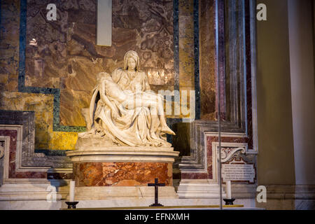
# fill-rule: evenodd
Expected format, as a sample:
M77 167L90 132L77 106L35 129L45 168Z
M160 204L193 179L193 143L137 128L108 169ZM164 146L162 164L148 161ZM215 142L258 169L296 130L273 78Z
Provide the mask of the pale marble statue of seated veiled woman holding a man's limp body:
M137 52L130 50L123 68L97 75L87 122L92 125L79 137L98 134L121 146L170 147L165 134L174 132L167 127L162 102L140 71Z

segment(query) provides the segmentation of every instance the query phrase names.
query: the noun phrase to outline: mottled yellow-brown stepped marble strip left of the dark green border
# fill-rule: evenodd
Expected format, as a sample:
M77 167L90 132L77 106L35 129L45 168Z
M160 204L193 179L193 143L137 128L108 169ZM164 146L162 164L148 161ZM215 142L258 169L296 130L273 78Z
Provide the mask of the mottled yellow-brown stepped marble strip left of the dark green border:
M60 149L64 144L59 142L56 148L49 148L52 139L53 96L51 94L34 94L19 92L19 48L20 48L20 1L1 1L0 29L0 110L35 111L36 146L39 149ZM67 132L59 134L68 136ZM74 149L74 144L70 148Z

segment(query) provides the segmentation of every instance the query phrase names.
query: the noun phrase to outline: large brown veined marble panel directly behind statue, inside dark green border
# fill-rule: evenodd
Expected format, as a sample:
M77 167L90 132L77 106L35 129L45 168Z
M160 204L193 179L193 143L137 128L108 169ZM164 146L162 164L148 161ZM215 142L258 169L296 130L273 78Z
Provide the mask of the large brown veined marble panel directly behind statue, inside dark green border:
M57 20L48 22L47 3L27 1L25 85L61 89L61 125L85 125L80 109L88 106L95 75L123 66L127 50L139 53L153 90L174 89L172 1L113 0L111 47L95 45L96 1L50 3ZM29 45L32 38L36 45Z

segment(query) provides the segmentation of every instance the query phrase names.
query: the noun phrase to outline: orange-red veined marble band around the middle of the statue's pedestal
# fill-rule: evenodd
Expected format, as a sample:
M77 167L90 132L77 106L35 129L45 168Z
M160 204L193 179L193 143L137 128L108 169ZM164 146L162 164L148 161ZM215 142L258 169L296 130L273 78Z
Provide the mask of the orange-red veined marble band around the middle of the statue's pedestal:
M147 186L155 178L172 186L172 163L167 162L74 162L77 187Z

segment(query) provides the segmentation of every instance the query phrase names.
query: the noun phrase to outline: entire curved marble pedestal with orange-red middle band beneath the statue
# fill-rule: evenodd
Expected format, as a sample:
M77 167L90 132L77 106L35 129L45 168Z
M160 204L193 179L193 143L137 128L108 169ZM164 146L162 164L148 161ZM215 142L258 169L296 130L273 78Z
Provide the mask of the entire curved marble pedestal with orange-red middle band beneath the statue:
M73 162L76 200L154 197L148 183L159 183L159 197L177 198L172 164L173 148L106 146L66 152Z

